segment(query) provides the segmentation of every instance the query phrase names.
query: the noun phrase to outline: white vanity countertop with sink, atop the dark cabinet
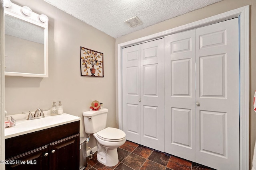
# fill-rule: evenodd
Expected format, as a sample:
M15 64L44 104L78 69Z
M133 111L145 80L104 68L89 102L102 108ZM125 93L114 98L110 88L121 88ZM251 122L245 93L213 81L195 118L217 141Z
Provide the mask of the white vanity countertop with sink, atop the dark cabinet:
M81 119L80 117L70 115L67 113L63 113L62 115L55 115L55 116L44 114L45 116L44 118L34 119L34 120L26 120L24 119L24 116L23 116L23 119L19 119L21 115L8 115L8 116L12 116L16 120L16 125L14 127L8 127L4 129L5 139L16 137L19 135L24 135L27 133L32 133L35 131L40 131L43 129L48 129L50 127L64 125L66 123L79 121ZM28 115L26 114L26 116Z

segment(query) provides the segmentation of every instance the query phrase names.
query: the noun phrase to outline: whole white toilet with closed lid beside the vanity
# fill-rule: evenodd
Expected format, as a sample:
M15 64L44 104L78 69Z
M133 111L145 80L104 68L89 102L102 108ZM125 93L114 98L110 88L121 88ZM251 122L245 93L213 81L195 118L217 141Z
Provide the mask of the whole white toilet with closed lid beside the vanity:
M93 134L97 143L97 160L106 166L118 164L117 148L125 143L126 134L120 129L107 127L108 109L97 111L85 111L84 129L85 133Z

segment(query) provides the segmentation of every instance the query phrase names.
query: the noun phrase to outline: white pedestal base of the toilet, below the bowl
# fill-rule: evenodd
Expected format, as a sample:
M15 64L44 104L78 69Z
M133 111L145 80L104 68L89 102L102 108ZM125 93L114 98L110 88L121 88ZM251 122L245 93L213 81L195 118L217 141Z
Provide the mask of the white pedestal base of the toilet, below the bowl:
M116 148L98 147L97 160L106 166L118 164L118 153Z

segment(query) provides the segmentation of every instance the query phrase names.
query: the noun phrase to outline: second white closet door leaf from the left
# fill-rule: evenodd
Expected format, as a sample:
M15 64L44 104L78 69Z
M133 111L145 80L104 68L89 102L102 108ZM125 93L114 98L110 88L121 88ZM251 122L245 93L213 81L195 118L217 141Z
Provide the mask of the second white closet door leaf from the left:
M141 44L141 144L164 152L164 39Z

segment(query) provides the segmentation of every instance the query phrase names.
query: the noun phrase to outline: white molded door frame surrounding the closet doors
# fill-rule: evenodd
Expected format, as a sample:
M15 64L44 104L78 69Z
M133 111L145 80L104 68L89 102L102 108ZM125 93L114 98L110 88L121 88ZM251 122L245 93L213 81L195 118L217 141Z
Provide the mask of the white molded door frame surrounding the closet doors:
M117 45L117 63L118 63L118 125L122 129L122 48L138 43L158 39L166 35L171 35L181 31L196 29L205 25L218 23L232 18L240 18L240 170L249 169L249 102L250 102L250 70L249 70L249 12L250 6L244 6L212 16L203 20L195 21L175 27L160 33L148 35L127 41Z

